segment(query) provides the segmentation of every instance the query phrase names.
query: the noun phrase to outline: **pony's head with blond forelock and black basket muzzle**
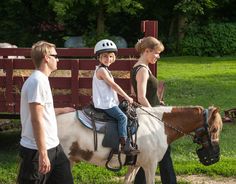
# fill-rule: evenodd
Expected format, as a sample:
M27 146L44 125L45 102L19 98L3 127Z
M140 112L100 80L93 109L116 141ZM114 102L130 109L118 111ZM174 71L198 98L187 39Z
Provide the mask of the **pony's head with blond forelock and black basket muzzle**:
M215 107L204 110L204 123L195 130L194 142L202 148L197 150L200 162L204 165L212 165L220 159L219 136L222 130L222 119Z

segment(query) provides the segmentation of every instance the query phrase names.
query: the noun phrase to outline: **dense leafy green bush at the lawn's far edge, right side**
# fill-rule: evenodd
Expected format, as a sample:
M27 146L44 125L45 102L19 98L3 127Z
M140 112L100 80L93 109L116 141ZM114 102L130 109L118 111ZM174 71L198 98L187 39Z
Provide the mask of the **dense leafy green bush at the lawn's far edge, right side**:
M191 25L181 42L182 55L224 56L236 54L236 24Z

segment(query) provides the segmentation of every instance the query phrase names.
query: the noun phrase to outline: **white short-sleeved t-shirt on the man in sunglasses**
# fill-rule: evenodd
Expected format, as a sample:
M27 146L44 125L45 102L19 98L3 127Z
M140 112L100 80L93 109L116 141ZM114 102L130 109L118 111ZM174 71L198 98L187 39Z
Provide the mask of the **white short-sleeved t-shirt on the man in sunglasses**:
M38 149L34 138L31 122L30 103L39 103L44 106L43 121L46 148L54 148L59 144L57 136L57 121L53 105L53 98L48 77L35 70L25 81L21 90L21 140L20 144L26 148Z

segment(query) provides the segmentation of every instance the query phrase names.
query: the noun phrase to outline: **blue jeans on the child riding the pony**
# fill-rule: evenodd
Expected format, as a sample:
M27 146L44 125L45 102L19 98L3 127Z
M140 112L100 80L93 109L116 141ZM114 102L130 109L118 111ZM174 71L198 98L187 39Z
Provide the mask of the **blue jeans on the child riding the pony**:
M114 106L110 109L103 109L109 116L115 118L118 121L118 134L119 137L127 138L127 116L118 107Z

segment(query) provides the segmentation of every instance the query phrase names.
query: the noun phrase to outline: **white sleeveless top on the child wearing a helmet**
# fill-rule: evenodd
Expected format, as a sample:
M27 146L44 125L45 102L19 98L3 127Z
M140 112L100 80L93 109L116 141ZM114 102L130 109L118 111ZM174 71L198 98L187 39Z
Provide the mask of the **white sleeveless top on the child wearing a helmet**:
M93 104L94 107L99 109L110 109L119 104L118 96L116 91L114 91L104 80L97 78L96 72L98 68L99 66L96 66L93 75Z

